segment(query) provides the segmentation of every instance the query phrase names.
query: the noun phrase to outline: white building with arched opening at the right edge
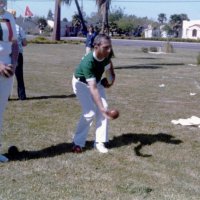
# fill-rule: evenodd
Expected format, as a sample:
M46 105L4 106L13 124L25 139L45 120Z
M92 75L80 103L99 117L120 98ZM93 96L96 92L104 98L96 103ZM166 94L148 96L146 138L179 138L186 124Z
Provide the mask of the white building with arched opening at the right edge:
M182 38L200 39L200 20L183 21Z

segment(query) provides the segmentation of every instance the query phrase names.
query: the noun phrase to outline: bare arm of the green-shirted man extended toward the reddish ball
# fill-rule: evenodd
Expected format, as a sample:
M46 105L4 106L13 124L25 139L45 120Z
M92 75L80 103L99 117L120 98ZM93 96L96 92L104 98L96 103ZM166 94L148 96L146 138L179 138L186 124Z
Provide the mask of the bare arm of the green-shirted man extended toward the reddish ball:
M89 89L92 94L92 97L94 99L94 102L96 103L97 107L99 110L102 112L105 118L110 119L108 115L108 111L104 108L102 100L99 95L99 91L97 89L97 84L95 80L88 81Z

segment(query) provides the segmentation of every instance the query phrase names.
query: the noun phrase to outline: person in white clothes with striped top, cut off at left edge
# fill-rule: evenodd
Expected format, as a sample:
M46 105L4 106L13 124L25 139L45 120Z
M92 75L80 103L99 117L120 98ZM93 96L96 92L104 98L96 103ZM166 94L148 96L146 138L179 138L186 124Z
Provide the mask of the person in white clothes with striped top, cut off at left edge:
M12 14L5 10L6 4L7 0L0 0L0 133L3 113L12 88L13 75L18 57L15 19ZM7 161L8 158L0 154L0 162Z

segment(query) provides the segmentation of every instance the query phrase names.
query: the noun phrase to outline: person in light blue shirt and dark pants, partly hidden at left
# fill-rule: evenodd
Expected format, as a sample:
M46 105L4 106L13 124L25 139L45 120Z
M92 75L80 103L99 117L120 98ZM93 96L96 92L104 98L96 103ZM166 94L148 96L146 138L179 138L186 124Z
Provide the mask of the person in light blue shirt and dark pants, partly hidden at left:
M8 10L14 18L16 19L16 11L15 10ZM26 40L26 34L21 26L18 24L16 26L17 31L17 42L19 47L19 55L17 60L17 67L15 70L15 76L17 79L17 93L19 100L26 100L26 91L25 91L25 85L24 85L24 76L23 76L23 64L24 64L24 58L23 58L23 47L27 46L27 40Z

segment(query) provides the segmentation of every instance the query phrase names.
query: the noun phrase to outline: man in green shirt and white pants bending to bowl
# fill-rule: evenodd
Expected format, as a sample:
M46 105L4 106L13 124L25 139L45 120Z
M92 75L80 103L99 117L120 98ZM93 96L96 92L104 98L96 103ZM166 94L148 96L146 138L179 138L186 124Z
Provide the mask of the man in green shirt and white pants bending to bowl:
M82 152L94 117L96 118L94 147L100 153L108 152L105 143L108 142L108 119L110 117L105 88L101 84L101 78L105 67L109 64L113 72L111 85L114 83L115 74L111 57L112 44L110 37L99 34L94 40L94 51L82 58L74 72L72 86L81 104L82 114L73 139L73 152Z

